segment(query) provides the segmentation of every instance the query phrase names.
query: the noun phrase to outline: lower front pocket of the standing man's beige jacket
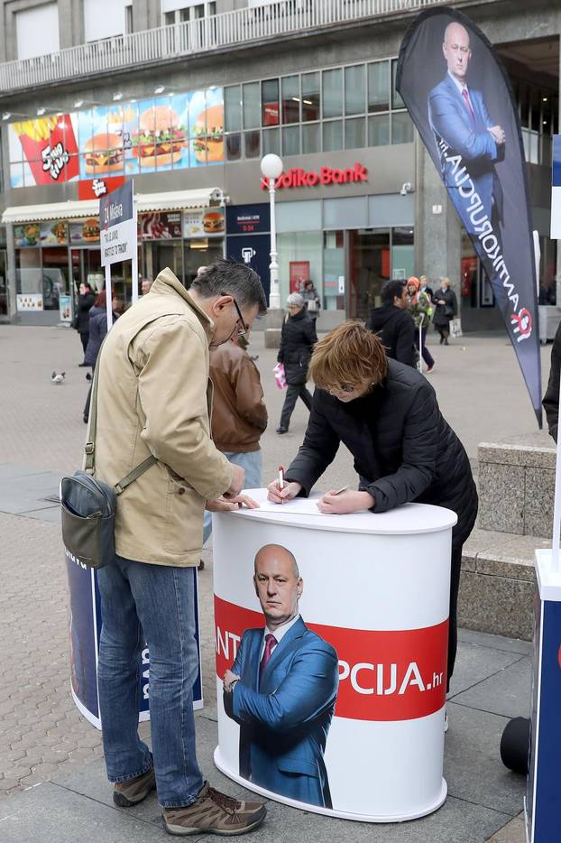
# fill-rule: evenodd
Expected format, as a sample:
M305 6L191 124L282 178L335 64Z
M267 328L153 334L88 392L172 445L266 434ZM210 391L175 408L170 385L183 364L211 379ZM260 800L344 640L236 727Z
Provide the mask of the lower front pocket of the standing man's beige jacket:
M189 553L202 547L204 507L205 502L192 486L180 478L169 477L164 550Z

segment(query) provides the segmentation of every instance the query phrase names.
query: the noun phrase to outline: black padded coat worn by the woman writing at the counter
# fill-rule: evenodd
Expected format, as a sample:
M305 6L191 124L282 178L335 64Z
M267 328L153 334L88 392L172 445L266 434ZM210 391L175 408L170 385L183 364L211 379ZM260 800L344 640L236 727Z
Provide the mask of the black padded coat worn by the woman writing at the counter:
M304 442L286 472L300 494L308 496L341 442L354 456L360 488L374 498L373 513L412 501L437 504L458 515L463 537L471 532L477 493L469 459L416 369L389 360L382 384L349 403L316 388Z

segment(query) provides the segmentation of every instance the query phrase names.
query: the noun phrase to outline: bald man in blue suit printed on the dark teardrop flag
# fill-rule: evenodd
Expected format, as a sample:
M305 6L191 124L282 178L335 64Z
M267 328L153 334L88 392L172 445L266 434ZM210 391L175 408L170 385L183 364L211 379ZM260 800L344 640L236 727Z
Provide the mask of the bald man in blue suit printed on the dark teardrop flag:
M506 135L501 125L492 120L482 91L468 84L472 51L469 32L461 23L448 23L442 51L447 72L428 95L428 116L444 183L462 214L464 226L474 234L474 222L462 213L463 205L455 199L455 191L461 187L455 177L455 155L462 156L485 214L496 225L502 220L502 190L495 163L504 158Z

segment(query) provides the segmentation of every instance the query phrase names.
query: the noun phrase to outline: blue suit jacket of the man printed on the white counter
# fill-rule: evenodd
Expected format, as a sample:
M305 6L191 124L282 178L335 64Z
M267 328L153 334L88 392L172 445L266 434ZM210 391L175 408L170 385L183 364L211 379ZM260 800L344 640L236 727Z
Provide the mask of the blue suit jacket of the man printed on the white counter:
M263 629L244 632L225 693L240 725L240 775L290 799L331 808L324 750L335 709L338 659L299 618L274 648L259 683Z

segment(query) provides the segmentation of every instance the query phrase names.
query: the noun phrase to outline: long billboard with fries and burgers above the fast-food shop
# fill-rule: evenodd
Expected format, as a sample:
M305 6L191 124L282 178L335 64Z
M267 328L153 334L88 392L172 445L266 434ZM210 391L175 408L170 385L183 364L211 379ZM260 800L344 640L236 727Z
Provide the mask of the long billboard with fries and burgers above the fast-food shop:
M8 126L12 188L224 161L222 88L96 106Z

